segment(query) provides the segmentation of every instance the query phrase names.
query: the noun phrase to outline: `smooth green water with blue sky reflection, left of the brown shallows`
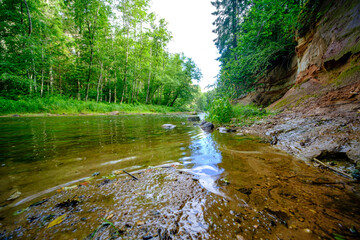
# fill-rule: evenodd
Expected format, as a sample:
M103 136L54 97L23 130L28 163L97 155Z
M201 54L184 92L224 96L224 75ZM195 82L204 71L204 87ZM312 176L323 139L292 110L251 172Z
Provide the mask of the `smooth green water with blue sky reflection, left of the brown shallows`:
M185 121L168 115L2 118L0 202L15 190L21 198L37 196L94 172L176 162L220 194L215 182L224 169L214 136ZM165 123L177 127L165 130Z

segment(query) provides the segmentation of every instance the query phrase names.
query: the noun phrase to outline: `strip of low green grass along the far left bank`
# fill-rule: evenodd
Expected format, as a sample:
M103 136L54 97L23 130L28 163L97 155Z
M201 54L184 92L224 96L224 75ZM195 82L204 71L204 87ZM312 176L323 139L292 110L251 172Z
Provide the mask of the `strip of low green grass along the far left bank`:
M185 108L174 108L161 105L96 103L94 101L78 101L62 96L47 98L23 98L11 100L0 97L0 115L11 114L79 114L108 113L119 111L123 113L167 113L183 112Z

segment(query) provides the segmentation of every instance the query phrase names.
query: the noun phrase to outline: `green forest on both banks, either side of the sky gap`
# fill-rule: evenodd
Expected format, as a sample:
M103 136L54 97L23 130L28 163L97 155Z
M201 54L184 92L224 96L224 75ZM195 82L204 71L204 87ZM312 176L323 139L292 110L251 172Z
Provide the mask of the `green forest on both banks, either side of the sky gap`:
M256 91L269 71L288 64L296 38L321 17L321 1L210 3L221 69L202 93L200 69L167 50L171 32L150 11L150 0L2 1L0 112L47 111L44 105L54 109L54 102L69 100L115 103L112 110L143 104L210 111L212 120L229 121L234 111L223 103Z

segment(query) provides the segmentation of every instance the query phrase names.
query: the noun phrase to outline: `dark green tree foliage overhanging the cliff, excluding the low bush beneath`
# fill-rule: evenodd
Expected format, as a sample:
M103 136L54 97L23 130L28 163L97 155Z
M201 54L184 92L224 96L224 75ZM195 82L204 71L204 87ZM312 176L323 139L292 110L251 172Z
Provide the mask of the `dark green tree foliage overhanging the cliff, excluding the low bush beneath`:
M217 91L224 96L237 98L256 89L259 80L272 67L285 63L294 54L300 3L298 0L217 2L228 7L237 2L241 6L241 17L237 18L234 28L236 32L220 34L218 30L215 31L224 38L222 42L225 44L218 46L222 55ZM233 11L222 11L222 8L215 6L227 18L233 15ZM215 21L217 29L220 23ZM236 44L233 43L235 40Z

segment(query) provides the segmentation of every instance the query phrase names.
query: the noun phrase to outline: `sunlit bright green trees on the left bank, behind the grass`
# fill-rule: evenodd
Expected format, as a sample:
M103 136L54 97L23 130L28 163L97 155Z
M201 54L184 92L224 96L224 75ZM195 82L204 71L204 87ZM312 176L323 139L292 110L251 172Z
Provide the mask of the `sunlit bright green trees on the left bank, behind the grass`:
M2 102L63 96L170 107L191 103L200 92L201 72L184 54L167 51L171 33L149 4L1 1Z

